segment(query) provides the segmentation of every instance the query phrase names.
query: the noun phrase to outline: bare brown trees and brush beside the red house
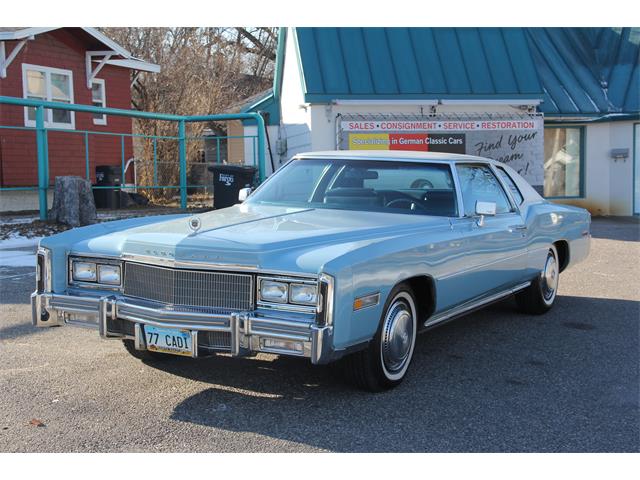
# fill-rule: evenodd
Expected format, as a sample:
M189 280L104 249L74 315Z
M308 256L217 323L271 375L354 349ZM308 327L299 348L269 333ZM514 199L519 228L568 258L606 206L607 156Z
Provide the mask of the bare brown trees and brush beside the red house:
M132 78L133 108L181 115L226 111L242 99L267 89L273 79L277 29L269 27L105 28L103 31L134 56L161 66L157 74ZM135 75L135 74L134 74ZM188 135L200 136L206 125L189 125ZM222 126L216 126L220 130ZM136 120L134 130L149 136L138 142L137 156L157 158L164 165L159 183L178 181L177 126L171 122ZM143 137L144 138L144 137ZM187 143L195 158L199 142ZM140 184L153 184L152 169L139 169ZM160 192L150 191L150 196ZM170 192L168 192L170 193Z

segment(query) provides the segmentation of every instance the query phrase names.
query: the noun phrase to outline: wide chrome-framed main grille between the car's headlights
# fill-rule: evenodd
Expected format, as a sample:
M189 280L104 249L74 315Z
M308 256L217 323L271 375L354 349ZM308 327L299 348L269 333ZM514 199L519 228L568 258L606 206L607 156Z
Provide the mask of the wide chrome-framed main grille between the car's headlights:
M124 294L185 307L251 310L251 275L127 262Z

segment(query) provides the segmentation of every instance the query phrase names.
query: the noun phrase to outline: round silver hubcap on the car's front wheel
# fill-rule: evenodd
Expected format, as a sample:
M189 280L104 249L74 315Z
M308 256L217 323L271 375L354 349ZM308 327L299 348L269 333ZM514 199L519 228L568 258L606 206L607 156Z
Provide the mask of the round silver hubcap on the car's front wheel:
M382 360L390 374L401 372L409 360L414 336L409 305L396 300L388 310L382 330Z

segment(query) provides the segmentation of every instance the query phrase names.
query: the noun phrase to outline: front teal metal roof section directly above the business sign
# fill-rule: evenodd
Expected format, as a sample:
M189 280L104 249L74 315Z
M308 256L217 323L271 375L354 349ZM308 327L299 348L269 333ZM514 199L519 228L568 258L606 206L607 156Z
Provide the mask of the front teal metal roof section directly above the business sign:
M542 94L521 28L297 28L308 101Z

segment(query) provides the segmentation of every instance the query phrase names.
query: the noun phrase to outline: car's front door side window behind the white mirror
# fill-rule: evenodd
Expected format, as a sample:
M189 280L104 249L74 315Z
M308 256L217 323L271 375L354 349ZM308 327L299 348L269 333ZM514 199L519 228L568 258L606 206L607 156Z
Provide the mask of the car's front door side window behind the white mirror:
M491 169L486 165L456 165L464 214L476 214L476 202L495 202L496 213L511 211L507 194Z

